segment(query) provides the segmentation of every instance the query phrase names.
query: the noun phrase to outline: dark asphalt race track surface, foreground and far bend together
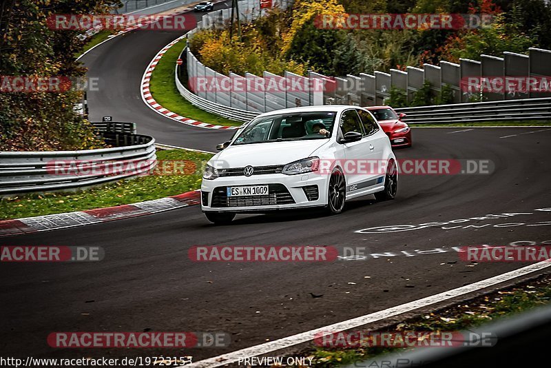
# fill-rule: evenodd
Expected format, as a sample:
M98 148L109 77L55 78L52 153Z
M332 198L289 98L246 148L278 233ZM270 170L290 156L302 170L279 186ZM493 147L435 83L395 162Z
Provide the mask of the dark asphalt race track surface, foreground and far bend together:
M136 121L138 132L152 134L160 143L212 150L231 132L165 119L147 108L139 95L145 66L176 37L136 31L87 54L90 76L109 82L102 92L90 94L91 116ZM2 355L172 354L166 349L52 349L46 337L53 331L223 331L231 335L229 347L185 351L200 360L528 264L473 265L461 261L453 247L519 241L551 244L551 212L537 210L551 207L551 128L427 128L414 129L413 137L413 148L397 150L399 159L490 160L495 170L491 174L403 175L394 201L375 203L367 197L349 203L339 216L280 212L238 216L232 225L214 226L193 206L0 238L1 245L105 249L105 259L97 263L0 267ZM487 214L507 215L469 220ZM455 221L460 219L464 221ZM440 224L419 226L435 222ZM418 226L396 232L404 227L395 225ZM387 230L357 232L371 227ZM331 245L366 247L369 255L364 260L324 263L194 263L188 257L193 245ZM174 356L182 352L174 351Z

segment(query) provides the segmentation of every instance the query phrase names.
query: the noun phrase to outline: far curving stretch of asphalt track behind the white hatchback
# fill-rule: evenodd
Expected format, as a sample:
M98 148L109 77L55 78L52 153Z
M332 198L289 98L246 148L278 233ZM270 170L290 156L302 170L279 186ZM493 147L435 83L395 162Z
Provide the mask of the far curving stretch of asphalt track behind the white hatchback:
M215 10L226 8L218 3ZM195 14L195 13L191 13ZM197 13L196 17L199 18ZM94 48L81 59L89 78L98 78L98 91L88 92L90 120L134 121L138 133L155 137L159 143L214 151L233 132L191 127L160 116L142 100L140 83L147 65L156 53L182 32L135 30Z

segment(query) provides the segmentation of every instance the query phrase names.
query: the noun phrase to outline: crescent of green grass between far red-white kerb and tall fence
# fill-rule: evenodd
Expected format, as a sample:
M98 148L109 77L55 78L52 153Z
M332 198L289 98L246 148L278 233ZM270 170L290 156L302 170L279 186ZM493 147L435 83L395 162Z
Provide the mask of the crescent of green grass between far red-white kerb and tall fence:
M186 40L183 39L169 48L160 59L159 63L153 70L151 80L149 81L149 90L155 101L163 106L163 108L175 112L189 119L202 121L216 125L241 125L242 122L230 120L211 114L194 105L180 95L176 89L176 81L174 80L174 68L176 60L180 52L185 47Z

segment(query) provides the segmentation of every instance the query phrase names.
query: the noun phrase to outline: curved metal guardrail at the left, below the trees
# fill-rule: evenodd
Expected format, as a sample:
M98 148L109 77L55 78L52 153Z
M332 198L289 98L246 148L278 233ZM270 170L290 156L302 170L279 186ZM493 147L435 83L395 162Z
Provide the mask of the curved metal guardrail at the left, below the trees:
M115 147L0 152L0 196L79 190L147 174L156 166L155 139L152 136L127 132L99 134L107 144Z

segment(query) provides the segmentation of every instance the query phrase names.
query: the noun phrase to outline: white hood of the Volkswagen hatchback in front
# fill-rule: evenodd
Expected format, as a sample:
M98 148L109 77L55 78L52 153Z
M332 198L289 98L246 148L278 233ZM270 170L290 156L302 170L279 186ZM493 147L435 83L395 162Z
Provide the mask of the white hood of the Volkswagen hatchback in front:
M219 168L286 165L310 157L326 143L329 143L329 139L230 145L209 163L212 165L216 161L216 167Z

